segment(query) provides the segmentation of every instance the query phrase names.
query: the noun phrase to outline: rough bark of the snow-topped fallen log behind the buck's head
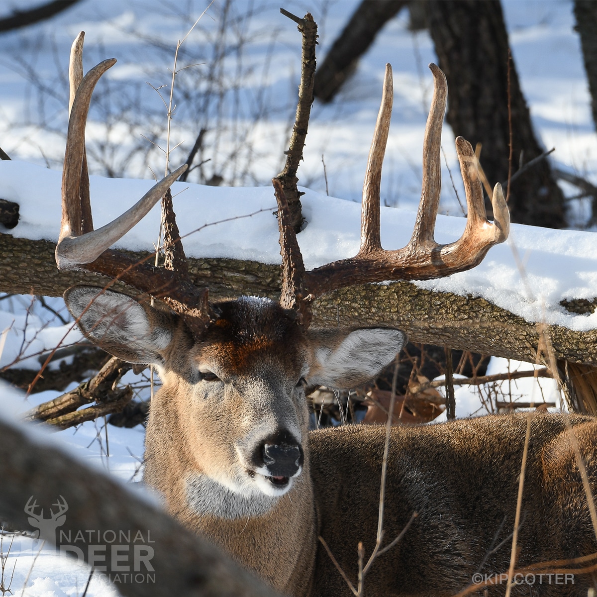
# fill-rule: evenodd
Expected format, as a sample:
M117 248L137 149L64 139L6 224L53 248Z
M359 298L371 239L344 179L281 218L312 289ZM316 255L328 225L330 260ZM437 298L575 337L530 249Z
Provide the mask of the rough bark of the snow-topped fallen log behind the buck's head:
M137 259L144 254L130 253ZM233 259L189 259L189 276L210 296L258 294L279 298L280 267ZM0 291L61 296L74 284L103 286L109 280L85 272L59 271L54 244L0 234ZM135 294L123 285L115 290ZM577 301L566 303L578 310ZM587 297L584 312L595 308ZM534 362L538 322L528 322L479 297L422 290L410 282L367 284L325 294L313 302L313 325L386 325L404 330L411 341ZM597 330L577 332L550 326L558 359L597 365Z

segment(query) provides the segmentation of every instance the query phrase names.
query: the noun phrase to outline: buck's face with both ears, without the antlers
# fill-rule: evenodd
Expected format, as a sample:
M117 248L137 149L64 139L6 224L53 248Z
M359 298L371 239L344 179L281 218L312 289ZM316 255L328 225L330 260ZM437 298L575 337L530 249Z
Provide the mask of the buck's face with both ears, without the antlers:
M262 504L287 493L307 451L304 387L362 383L405 340L384 328L303 330L292 310L241 297L214 304L217 319L195 341L179 316L122 294L76 287L65 299L91 340L158 366L163 386L148 433L180 435L195 472L189 491L214 500L214 487L217 499L232 492Z

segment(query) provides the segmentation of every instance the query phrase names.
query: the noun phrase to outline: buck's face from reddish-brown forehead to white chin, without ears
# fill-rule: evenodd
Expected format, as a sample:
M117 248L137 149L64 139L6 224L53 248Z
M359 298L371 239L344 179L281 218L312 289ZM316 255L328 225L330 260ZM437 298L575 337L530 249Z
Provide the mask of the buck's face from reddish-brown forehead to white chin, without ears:
M214 309L219 318L189 353L187 435L211 479L247 497L281 496L304 461L303 334L292 312L267 299Z

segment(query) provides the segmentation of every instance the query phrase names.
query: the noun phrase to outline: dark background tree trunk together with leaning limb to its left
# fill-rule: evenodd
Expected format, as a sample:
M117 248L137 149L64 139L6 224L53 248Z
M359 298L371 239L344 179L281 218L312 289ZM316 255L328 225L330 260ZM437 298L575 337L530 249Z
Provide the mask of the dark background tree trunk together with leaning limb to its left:
M506 181L510 125L512 174L540 156L543 148L534 134L515 64L509 61L508 35L499 0L412 0L408 4L415 7L416 20L421 15L426 17L439 67L450 88L447 121L454 135L463 136L473 147L481 143L481 164L490 184ZM316 97L333 99L374 36L405 5L361 2L316 75ZM512 182L509 207L514 222L565 226L564 196L549 162L539 161ZM487 208L491 208L489 202Z

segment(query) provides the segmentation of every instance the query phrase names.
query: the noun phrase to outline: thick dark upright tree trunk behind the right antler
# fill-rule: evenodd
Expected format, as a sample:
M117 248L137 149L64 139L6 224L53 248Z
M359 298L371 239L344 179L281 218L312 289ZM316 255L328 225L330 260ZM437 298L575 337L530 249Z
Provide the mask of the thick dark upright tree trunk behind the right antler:
M429 31L450 88L447 119L456 136L482 144L481 164L491 185L509 168L508 36L498 0L429 0ZM543 152L512 61L513 172ZM491 207L491 206L488 206ZM565 226L564 196L547 160L512 183L512 221Z

